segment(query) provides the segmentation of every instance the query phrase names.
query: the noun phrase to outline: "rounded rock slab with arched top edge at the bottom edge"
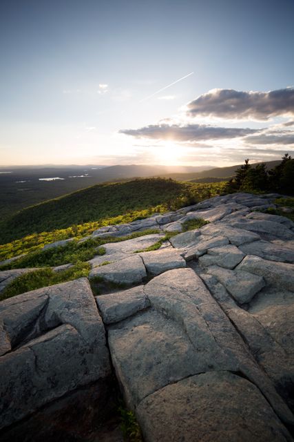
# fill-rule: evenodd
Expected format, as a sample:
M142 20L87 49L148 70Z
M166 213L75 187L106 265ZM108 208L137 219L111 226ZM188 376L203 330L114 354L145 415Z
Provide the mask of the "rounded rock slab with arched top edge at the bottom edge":
M147 396L137 413L147 442L291 438L255 385L229 372L199 374L167 385Z

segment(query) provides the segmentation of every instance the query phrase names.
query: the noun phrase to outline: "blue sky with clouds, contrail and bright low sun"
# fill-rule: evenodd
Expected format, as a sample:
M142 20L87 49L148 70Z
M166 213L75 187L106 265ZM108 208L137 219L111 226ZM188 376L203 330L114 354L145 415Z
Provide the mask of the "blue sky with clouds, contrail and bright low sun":
M293 0L1 0L0 165L294 154Z

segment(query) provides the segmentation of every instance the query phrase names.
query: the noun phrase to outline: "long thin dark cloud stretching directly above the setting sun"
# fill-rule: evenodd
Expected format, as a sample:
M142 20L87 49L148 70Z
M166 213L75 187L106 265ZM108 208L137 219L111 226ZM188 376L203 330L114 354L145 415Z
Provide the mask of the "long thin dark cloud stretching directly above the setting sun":
M258 133L257 129L249 128L224 128L207 126L204 124L151 124L138 129L125 129L120 131L125 135L137 138L151 138L152 140L173 140L178 142L197 142L206 140L221 140L226 138L244 137Z

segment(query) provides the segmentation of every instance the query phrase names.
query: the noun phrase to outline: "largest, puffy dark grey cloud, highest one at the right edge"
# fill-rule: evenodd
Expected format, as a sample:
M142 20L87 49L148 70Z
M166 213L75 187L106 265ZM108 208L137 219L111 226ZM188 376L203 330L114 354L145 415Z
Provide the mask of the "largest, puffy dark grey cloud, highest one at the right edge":
M213 89L187 105L192 117L209 116L227 119L261 119L294 115L294 88L270 92L242 92Z

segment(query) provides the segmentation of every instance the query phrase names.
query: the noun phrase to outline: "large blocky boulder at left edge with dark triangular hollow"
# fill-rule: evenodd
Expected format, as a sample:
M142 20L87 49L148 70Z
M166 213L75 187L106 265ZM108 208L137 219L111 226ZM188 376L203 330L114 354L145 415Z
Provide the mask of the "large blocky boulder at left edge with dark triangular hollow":
M15 296L0 307L12 347L0 358L1 427L110 374L105 330L86 278Z

